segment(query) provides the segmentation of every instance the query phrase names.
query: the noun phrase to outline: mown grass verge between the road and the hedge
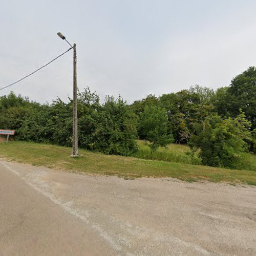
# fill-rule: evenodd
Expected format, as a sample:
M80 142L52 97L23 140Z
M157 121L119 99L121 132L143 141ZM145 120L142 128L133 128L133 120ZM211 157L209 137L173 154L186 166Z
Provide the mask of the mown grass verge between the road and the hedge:
M201 165L143 160L111 156L79 150L80 156L70 157L72 148L32 142L0 143L0 157L32 165L102 175L117 175L125 179L137 177L172 177L185 181L207 180L230 184L256 185L256 173Z

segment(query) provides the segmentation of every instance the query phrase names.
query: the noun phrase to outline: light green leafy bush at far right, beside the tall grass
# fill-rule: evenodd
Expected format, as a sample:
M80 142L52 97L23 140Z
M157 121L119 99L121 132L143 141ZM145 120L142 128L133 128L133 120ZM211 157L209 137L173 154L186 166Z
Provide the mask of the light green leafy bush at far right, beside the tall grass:
M191 136L190 147L200 148L202 163L209 166L236 168L236 163L245 152L251 136L250 122L244 113L237 118L222 119L209 116L205 121L196 123L196 133Z

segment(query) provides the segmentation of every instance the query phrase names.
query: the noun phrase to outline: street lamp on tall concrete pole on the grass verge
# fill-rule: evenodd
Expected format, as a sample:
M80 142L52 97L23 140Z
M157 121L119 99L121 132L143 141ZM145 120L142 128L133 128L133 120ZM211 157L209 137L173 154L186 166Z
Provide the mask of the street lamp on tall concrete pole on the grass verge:
M57 35L65 40L74 50L73 60L73 154L72 157L78 156L78 139L77 139L77 83L76 83L76 44L73 46L67 41L66 37L58 32Z

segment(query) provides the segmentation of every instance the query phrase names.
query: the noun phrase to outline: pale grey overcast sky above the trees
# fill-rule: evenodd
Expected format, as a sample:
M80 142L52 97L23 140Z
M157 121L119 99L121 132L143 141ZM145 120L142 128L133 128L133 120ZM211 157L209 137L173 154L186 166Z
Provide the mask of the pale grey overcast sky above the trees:
M256 66L255 0L1 0L0 88L77 44L78 88L132 102L191 85L217 89ZM0 91L72 96L73 54Z

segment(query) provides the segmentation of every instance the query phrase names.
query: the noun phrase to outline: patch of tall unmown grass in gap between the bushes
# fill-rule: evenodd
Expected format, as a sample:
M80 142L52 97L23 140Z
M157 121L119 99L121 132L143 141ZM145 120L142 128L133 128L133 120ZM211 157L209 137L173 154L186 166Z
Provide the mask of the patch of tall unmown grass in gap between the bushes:
M169 144L167 147L159 147L157 151L151 152L145 141L137 141L139 150L134 157L141 159L162 160L175 163L199 164L200 159L196 156L191 158L188 153L190 148L187 145Z

